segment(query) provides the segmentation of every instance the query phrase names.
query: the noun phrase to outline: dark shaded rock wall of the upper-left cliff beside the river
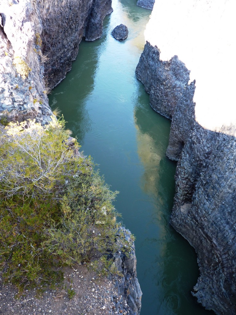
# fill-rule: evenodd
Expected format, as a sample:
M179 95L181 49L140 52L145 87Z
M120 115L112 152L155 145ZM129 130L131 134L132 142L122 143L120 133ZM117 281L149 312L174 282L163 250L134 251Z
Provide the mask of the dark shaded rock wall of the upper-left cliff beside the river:
M42 51L48 56L45 63L45 75L50 77L50 88L56 86L70 71L71 63L76 59L79 43L83 36L88 41L102 35L103 19L113 9L111 0L59 0L57 6L50 0L42 1ZM63 9L61 9L63 8Z

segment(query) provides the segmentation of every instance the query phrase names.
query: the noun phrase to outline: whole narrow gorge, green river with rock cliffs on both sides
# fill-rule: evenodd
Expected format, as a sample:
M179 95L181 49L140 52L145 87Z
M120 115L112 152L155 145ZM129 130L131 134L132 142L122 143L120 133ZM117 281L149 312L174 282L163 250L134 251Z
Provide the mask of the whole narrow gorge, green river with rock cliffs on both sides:
M213 313L200 304L235 315L233 0L136 3L2 0L0 123L35 118L46 126L55 106L65 115L121 192L115 206L137 237L141 315ZM122 43L111 37L120 23L129 30ZM170 135L148 102L171 119ZM200 275L194 250L169 220L196 251ZM142 292L124 231L132 255L113 257L124 276L109 279L117 291L109 312L138 315Z

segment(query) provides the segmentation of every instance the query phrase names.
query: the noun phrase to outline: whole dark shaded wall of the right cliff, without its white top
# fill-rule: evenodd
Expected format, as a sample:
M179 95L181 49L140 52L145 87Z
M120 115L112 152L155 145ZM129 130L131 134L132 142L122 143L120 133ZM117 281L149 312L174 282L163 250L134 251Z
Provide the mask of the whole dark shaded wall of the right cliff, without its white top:
M170 223L197 252L200 276L192 294L216 314L233 315L236 124L214 131L196 121L194 93L199 81L191 82L183 61L177 55L160 60L158 47L146 42L136 74L150 94L152 108L172 120L166 155L178 163Z

